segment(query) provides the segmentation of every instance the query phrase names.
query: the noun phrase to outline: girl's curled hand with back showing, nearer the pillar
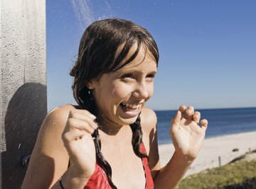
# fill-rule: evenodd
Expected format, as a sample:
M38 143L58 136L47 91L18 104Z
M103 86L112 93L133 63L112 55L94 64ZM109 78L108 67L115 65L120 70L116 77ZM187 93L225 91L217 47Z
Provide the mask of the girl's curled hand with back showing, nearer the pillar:
M91 134L97 129L95 115L87 110L71 110L62 137L74 170L89 178L95 171L95 144Z

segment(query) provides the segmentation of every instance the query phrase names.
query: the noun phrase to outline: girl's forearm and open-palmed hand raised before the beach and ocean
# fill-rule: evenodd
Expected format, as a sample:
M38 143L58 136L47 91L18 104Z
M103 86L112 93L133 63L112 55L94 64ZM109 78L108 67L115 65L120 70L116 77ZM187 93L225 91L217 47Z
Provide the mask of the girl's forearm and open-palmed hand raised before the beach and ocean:
M176 188L189 166L196 159L206 132L207 120L201 120L200 113L193 107L181 105L171 122L171 138L175 147L174 155L154 178L155 188Z

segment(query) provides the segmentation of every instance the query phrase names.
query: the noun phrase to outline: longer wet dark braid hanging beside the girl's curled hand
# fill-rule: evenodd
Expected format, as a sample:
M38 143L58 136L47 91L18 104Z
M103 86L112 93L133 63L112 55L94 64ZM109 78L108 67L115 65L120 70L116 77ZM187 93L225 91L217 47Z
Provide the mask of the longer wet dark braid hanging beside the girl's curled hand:
M117 187L112 182L112 169L110 164L107 162L107 160L104 158L102 152L101 152L101 142L100 142L100 134L98 130L95 130L95 132L92 133L92 137L94 137L95 142L95 149L96 149L96 159L99 166L105 171L107 174L107 180L109 181L112 188L117 189Z

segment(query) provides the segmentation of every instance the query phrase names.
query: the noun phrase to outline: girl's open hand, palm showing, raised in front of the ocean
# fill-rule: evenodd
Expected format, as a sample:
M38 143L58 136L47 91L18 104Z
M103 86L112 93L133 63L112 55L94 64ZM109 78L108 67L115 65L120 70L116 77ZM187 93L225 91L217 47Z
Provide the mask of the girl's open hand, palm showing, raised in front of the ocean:
M195 112L192 106L181 105L171 121L171 139L176 154L188 160L196 159L201 149L208 125L207 120L201 120L201 114Z

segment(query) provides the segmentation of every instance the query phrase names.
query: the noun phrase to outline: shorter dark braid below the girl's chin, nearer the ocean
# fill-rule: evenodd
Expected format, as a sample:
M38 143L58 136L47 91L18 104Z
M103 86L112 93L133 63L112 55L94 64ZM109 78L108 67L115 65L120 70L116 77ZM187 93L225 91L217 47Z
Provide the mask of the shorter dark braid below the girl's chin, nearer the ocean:
M140 145L142 144L142 126L140 125L140 115L138 115L137 120L130 125L132 129L132 147L134 149L134 153L140 157L146 157L149 159L149 156L146 154L142 154L142 152L139 150Z

